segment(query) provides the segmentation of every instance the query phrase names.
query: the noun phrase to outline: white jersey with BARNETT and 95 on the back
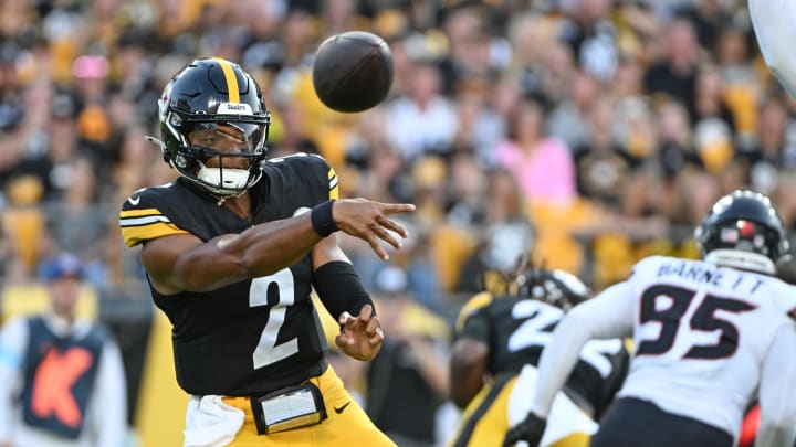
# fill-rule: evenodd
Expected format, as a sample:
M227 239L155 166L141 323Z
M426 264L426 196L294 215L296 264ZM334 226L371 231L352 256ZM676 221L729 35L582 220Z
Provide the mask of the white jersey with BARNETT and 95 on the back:
M796 327L796 287L752 272L654 256L605 292L635 301L635 352L618 395L737 435L775 333Z

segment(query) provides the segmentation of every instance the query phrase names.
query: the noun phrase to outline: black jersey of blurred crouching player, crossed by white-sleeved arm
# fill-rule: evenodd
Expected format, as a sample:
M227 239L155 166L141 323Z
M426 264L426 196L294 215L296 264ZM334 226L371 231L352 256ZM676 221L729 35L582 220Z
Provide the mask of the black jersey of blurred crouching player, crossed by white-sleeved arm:
M525 364L538 364L542 350L563 318L563 310L540 300L515 296L495 298L482 292L462 308L457 337L489 345L490 374L516 374ZM628 362L621 340L591 340L580 351L565 389L585 400L595 415L599 415L625 380Z

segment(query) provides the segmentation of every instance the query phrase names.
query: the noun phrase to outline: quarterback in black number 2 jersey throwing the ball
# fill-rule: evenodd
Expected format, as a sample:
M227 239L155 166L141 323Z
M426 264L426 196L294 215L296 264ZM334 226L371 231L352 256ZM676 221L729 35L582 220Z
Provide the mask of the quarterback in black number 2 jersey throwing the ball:
M334 232L398 248L389 219L413 210L337 200L317 156L264 161L270 114L253 78L222 58L191 62L159 99L164 159L178 179L122 207L143 245L155 304L172 324L177 380L191 394L185 445L392 445L328 366L310 299L338 319L335 342L369 360L384 334Z

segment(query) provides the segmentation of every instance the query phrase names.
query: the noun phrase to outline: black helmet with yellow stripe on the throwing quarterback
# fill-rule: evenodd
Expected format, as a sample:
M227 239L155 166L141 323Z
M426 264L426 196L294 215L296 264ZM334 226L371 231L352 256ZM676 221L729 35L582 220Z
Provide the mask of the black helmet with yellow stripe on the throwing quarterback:
M262 177L271 114L262 92L238 64L220 57L198 58L166 85L158 99L163 156L181 175L221 198L238 195ZM234 129L242 141L235 152L191 145L197 130ZM219 157L219 168L206 162ZM244 158L248 169L224 168L231 158Z

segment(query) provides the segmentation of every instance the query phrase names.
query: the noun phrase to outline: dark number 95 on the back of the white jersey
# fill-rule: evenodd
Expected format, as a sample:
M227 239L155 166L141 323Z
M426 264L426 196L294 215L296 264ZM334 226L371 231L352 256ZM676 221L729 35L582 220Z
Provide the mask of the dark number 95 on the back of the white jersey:
M718 310L740 313L754 310L756 307L736 299L705 295L689 320L688 328L681 328L681 320L688 311L696 292L691 289L670 285L654 286L641 296L641 324L660 323L660 332L653 340L639 343L636 355L660 355L668 352L681 331L719 331L719 340L713 344L691 345L684 359L723 359L735 353L739 343L739 330L732 322L716 317ZM664 300L664 301L662 301ZM668 302L667 302L668 301ZM662 306L668 304L669 306Z

